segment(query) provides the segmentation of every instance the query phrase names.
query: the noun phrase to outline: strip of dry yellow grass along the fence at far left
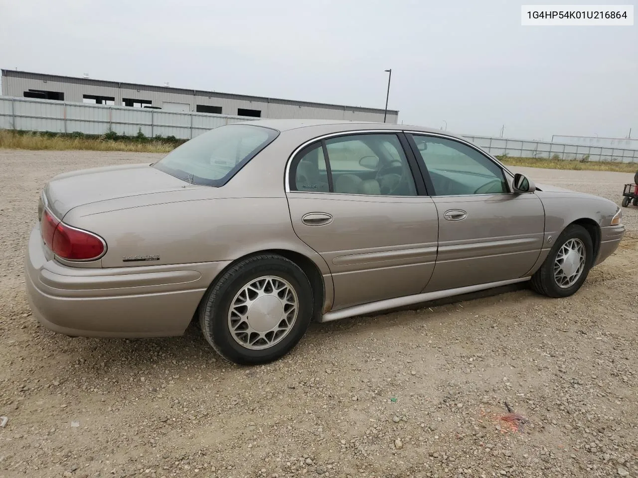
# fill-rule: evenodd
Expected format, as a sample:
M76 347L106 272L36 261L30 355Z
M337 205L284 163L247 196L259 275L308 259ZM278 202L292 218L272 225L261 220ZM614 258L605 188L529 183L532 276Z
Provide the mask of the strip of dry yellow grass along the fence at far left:
M163 141L110 141L103 138L70 138L69 136L46 136L37 133L17 134L0 131L0 148L29 150L92 150L131 151L140 153L167 153L175 145Z

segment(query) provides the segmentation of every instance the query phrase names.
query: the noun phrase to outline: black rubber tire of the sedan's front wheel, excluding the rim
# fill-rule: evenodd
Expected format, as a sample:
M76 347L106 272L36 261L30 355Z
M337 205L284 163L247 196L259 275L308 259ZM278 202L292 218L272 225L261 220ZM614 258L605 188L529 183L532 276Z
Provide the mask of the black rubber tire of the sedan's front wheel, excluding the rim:
M585 264L578 280L572 286L563 288L558 285L558 282L556 282L556 278L554 277L554 261L556 261L556 256L558 255L561 247L563 247L563 245L571 239L579 239L584 245ZM581 288L585 279L587 279L587 275L590 272L591 265L593 263L593 250L594 248L591 236L585 228L578 226L577 224L567 226L567 228L565 228L565 230L556 239L554 247L552 247L549 254L547 254L545 262L531 277L532 289L547 297L568 297L574 294Z

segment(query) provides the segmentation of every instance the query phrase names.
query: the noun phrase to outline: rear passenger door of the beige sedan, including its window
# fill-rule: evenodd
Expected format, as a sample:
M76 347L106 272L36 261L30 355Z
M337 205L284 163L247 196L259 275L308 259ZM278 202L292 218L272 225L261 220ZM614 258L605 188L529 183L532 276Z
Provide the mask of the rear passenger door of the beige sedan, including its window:
M290 161L292 225L330 267L333 309L417 294L432 275L438 215L404 148L403 133L336 134Z

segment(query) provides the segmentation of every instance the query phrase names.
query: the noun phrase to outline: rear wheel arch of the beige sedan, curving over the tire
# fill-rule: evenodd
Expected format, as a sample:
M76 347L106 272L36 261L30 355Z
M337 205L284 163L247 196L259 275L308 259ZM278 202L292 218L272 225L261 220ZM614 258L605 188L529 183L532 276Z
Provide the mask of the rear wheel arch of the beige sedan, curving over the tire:
M306 274L306 277L308 277L308 280L310 282L310 287L313 291L313 320L317 322L320 321L324 312L324 307L329 308L332 303L332 294L327 293L327 287L332 287L332 284L325 283L326 281L323 280L323 275L315 261L313 261L310 257L294 250L263 249L257 250L255 252L250 252L249 254L244 254L244 256L241 257L237 257L237 259L230 262L229 264L226 264L226 267L219 271L218 275L216 275L216 277L212 280L207 290L214 287L219 277L223 276L224 273L235 266L235 264L243 261L244 259L248 259L249 257L261 256L262 254L277 254L278 256L285 257L296 266L298 266L304 272L304 274ZM202 301L204 301L205 297L206 294L204 293L197 307L197 310L195 311L195 317L197 317L198 310L202 305ZM326 303L326 299L328 299L330 303Z

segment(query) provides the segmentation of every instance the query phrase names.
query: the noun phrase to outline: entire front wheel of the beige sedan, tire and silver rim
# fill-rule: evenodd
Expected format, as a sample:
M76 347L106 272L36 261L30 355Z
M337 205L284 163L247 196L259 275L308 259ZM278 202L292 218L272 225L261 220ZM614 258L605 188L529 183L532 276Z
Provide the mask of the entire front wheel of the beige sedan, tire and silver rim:
M567 297L581 288L593 262L593 243L585 228L572 224L554 243L531 286L548 297Z

